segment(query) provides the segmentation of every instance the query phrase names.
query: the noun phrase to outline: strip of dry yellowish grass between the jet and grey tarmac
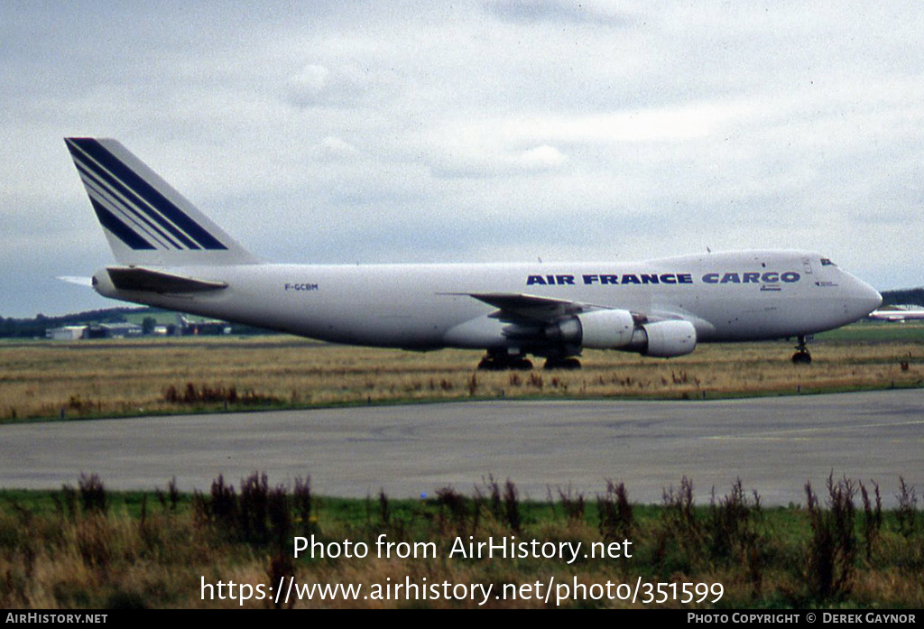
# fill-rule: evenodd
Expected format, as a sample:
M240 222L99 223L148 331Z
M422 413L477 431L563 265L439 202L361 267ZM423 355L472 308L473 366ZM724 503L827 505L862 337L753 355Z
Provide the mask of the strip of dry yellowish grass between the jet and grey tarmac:
M658 396L919 386L924 345L702 345L669 360L587 351L577 372L475 371L481 353L322 345L288 336L0 345L0 421L191 410L521 396ZM538 362L538 361L537 361ZM904 366L903 366L903 363Z

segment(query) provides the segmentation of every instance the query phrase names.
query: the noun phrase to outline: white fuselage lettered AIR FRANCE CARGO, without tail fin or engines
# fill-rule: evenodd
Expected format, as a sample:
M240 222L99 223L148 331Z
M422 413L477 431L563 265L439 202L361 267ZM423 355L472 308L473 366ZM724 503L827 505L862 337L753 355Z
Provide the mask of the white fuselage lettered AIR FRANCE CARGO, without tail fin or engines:
M822 261L823 260L823 261ZM497 308L473 294L541 296L684 320L699 342L818 333L857 321L881 296L818 254L743 251L639 262L170 267L227 284L188 295L115 297L352 345L434 349L511 345Z

